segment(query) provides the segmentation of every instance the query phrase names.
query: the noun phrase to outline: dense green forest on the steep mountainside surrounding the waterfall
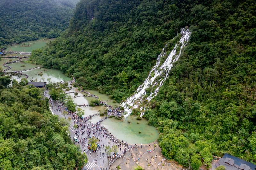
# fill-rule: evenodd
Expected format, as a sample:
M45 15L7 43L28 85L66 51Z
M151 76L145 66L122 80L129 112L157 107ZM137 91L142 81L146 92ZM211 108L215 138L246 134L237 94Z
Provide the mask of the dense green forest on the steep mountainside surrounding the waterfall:
M226 152L256 163L255 13L253 0L81 0L68 30L32 60L120 102L189 26L190 41L144 117L162 133L163 155L184 166L210 167L212 154Z

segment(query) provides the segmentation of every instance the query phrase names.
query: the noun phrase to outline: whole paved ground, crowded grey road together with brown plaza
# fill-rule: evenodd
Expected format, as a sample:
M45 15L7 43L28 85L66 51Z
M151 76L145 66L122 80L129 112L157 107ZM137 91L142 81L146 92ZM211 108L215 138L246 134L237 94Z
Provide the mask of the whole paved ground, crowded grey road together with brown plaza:
M45 92L45 97L50 98L48 92ZM52 114L58 115L61 118L71 118L69 125L70 137L71 139L73 139L74 136L78 138L78 142L74 144L79 145L82 152L85 152L88 158L88 162L83 167L84 170L116 169L118 165L122 170L134 169L137 165L142 166L146 170L155 170L157 168L164 170L182 169L182 166L175 162L166 161L164 159L157 141L148 145L136 145L126 144L114 138L113 135L100 124L100 122L107 117L103 117L98 123L93 124L89 122L92 116L85 117L84 119L78 119L73 113L64 116L62 111L64 111L65 108L60 102L51 101L49 106ZM98 113L95 113L95 115L98 115ZM78 125L77 129L73 129L75 123ZM100 139L96 152L87 149L88 140L91 137ZM156 144L155 148L154 144ZM117 146L117 155L115 154L115 158L107 157L105 146L112 147L113 145ZM151 152L148 152L148 150L151 150ZM113 156L114 153L112 152L110 155Z

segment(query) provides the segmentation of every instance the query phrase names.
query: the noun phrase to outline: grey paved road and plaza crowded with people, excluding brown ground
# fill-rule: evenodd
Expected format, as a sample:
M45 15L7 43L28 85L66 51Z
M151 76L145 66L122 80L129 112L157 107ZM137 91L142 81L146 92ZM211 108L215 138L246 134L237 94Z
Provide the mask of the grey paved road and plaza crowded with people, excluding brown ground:
M48 92L46 91L45 97L50 98ZM51 100L51 98L50 98ZM105 129L100 123L93 124L89 122L88 120L91 118L84 118L77 119L76 115L68 114L66 117L62 114L62 111L64 111L64 107L61 106L60 102L51 101L49 103L49 106L51 106L51 112L55 115L58 115L61 118L68 119L71 118L71 123L69 126L69 132L70 137L73 139L74 136L78 138L78 142L74 143L76 145L79 145L82 152L85 152L88 157L88 162L84 166L83 169L94 169L98 170L101 169L108 169L109 166L117 159L116 157L121 157L124 152L126 152L126 149L128 146L122 141L115 139L112 134L110 134L107 129ZM104 118L103 118L104 119ZM73 129L74 124L78 125L77 129ZM88 146L88 139L90 137L96 137L99 140L98 142L98 148L97 152L92 152L91 150L87 149ZM105 152L105 146L112 147L113 145L116 145L118 148L117 155L115 154L114 159L108 159L106 152ZM112 152L110 155L114 155ZM96 166L95 166L96 165Z

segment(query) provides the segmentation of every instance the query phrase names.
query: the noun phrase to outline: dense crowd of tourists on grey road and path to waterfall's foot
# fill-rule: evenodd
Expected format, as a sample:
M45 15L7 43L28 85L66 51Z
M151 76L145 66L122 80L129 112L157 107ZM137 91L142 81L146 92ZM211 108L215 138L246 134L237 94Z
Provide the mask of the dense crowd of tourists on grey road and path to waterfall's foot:
M47 92L44 93L44 96L47 97ZM101 104L105 105L107 107L107 116L100 119L96 124L90 122L90 119L94 114L90 116L84 116L82 118L78 117L76 115L76 112L71 112L67 109L67 107L64 106L63 103L60 101L53 101L52 99L49 100L50 106L52 110L55 110L59 113L63 113L63 111L67 111L69 117L72 119L72 124L76 124L77 128L75 129L72 127L76 137L77 137L77 143L80 144L81 149L83 152L91 154L91 152L97 153L97 158L94 158L94 162L97 164L97 160L102 159L104 163L104 158L107 159L108 167L106 167L106 170L116 161L116 159L124 156L124 154L127 151L132 150L134 147L137 147L137 145L128 145L127 142L120 141L119 139L115 138L104 126L102 126L100 123L108 118L109 116L115 115L121 117L122 111L120 111L120 107L117 107L115 109L112 108L111 105L108 105L107 103L100 101ZM90 150L89 146L89 138L95 137L98 139L97 142L97 148L96 150ZM106 146L113 146L116 145L118 152L114 153L106 153ZM100 169L102 168L102 165L99 165Z

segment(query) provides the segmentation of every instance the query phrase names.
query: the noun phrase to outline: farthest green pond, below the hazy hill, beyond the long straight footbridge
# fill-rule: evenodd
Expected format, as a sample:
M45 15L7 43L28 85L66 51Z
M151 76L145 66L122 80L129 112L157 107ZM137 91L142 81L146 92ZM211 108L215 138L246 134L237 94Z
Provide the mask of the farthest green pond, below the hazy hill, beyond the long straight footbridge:
M28 47L20 47L23 43L21 44L13 44L7 46L5 51L21 51L21 52L31 52L34 49L42 48L45 46L47 42L53 41L54 38L52 39L45 39L45 40L35 40L35 41L27 41L24 42L25 44L30 44Z

